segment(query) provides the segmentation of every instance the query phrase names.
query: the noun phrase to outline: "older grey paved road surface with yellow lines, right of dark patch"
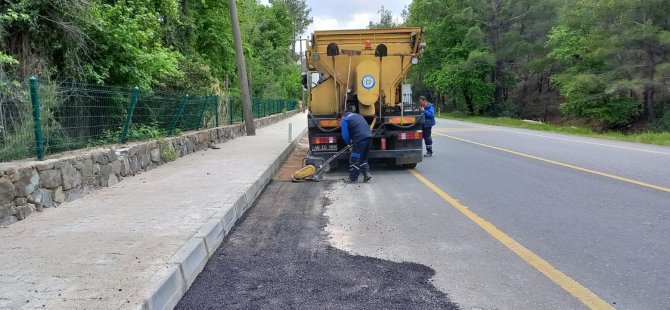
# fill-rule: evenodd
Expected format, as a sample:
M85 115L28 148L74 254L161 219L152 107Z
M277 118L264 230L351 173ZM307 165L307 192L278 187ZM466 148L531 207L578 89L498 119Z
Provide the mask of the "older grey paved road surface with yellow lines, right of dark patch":
M331 245L425 266L463 309L670 308L670 148L455 121L435 133L416 171L312 189Z

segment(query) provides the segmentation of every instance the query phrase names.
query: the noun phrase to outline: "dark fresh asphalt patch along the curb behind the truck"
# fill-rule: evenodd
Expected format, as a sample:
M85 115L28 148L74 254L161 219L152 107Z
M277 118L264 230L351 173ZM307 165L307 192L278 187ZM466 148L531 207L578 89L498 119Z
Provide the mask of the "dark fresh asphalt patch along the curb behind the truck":
M427 266L330 246L331 184L268 185L176 309L458 309Z

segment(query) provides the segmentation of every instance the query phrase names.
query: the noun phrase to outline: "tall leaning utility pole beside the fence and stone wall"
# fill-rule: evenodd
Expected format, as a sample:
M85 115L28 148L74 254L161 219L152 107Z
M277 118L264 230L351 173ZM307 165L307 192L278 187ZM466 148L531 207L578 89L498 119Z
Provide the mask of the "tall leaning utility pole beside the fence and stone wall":
M242 35L240 34L240 21L237 18L237 4L235 0L228 0L230 9L230 22L233 26L233 39L235 40L235 54L237 58L237 73L240 79L240 92L242 92L242 105L244 109L244 124L247 136L256 135L254 115L251 110L251 94L249 93L249 79L247 77L247 66L244 61L244 50L242 49Z

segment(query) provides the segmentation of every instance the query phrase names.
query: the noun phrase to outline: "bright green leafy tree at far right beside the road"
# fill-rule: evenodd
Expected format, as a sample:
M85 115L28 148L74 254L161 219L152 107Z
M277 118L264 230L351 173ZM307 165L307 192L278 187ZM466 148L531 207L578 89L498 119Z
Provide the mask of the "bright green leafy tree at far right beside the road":
M667 1L575 1L552 30L550 56L564 70L553 80L571 116L627 126L642 114L662 116L667 92L657 73L667 66ZM660 111L658 111L660 108ZM660 112L660 113L659 113Z

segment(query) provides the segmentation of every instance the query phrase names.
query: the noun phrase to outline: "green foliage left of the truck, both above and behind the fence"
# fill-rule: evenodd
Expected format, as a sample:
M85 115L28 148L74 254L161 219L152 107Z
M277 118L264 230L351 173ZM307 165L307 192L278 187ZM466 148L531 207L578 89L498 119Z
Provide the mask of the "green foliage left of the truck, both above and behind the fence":
M301 75L291 49L312 22L305 1L237 3L254 97L298 98ZM239 93L236 72L225 1L4 1L0 160L33 155L30 100L25 89L16 91L29 76L40 78L44 142L47 153L56 153L118 143L132 86L141 95L130 140L166 135L186 94L198 101L186 106L177 132L239 121L239 100L233 111L225 101L204 100ZM261 109L255 112L263 116L280 110Z

